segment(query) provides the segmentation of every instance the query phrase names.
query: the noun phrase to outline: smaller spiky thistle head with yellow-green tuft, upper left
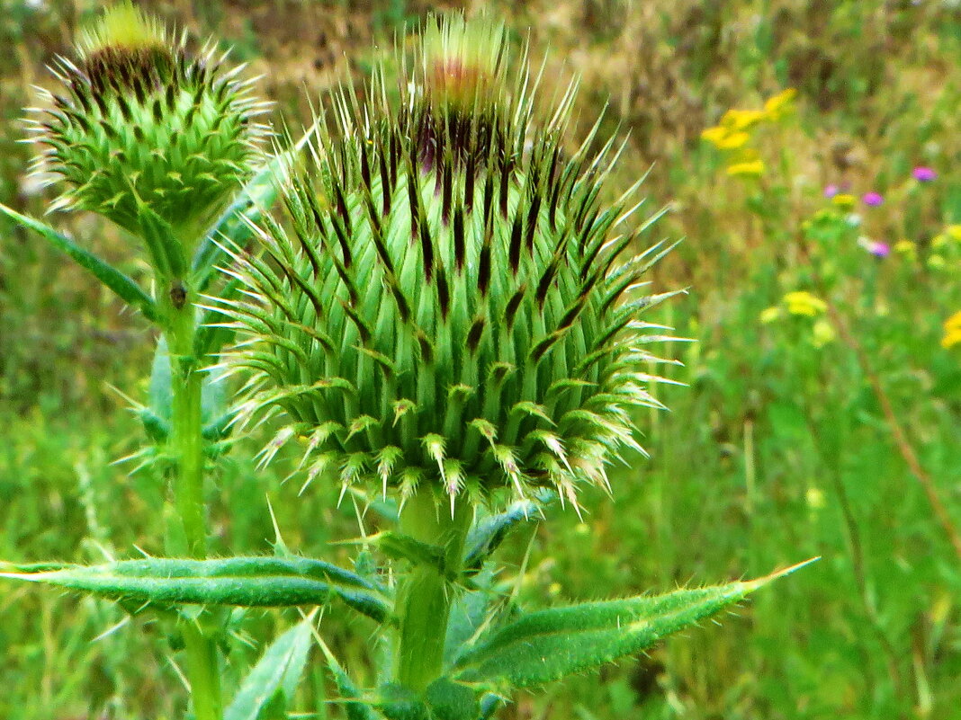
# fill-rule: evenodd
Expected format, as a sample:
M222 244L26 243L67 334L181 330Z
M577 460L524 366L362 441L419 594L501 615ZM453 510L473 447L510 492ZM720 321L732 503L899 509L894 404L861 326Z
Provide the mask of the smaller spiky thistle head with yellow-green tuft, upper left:
M67 184L51 209L92 210L139 234L142 202L189 248L249 176L264 105L212 46L192 56L185 36L172 41L129 3L81 35L78 56L52 68L62 93L44 91L50 107L33 127L46 147L35 170Z

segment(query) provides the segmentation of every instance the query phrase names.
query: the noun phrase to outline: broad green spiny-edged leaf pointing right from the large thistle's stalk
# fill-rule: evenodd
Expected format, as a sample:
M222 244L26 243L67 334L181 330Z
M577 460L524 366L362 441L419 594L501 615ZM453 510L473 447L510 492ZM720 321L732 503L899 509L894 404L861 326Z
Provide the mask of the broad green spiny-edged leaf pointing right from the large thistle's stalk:
M639 653L810 562L750 582L531 612L481 637L456 661L455 677L512 687L551 683Z

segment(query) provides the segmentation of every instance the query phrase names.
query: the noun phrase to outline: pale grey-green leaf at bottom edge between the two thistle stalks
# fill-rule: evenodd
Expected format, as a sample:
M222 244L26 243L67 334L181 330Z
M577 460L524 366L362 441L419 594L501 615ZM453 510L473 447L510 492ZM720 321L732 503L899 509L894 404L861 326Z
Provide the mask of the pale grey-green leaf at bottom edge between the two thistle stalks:
M284 716L307 664L312 625L305 619L274 640L240 685L224 720L265 720L278 708Z

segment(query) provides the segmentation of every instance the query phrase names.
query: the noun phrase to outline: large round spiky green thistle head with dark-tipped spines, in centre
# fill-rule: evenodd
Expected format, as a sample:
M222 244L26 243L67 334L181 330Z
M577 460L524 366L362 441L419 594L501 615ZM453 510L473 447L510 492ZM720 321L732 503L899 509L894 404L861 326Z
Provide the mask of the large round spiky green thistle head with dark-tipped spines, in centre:
M630 193L602 204L605 152L560 146L572 94L536 124L505 48L453 17L397 102L382 73L363 101L335 95L333 127L279 180L291 229L268 222L262 255L234 255L244 409L283 412L267 453L302 437L308 477L574 501L637 447L631 406L659 406L639 320L656 298L634 292L659 252L618 260L643 229Z

